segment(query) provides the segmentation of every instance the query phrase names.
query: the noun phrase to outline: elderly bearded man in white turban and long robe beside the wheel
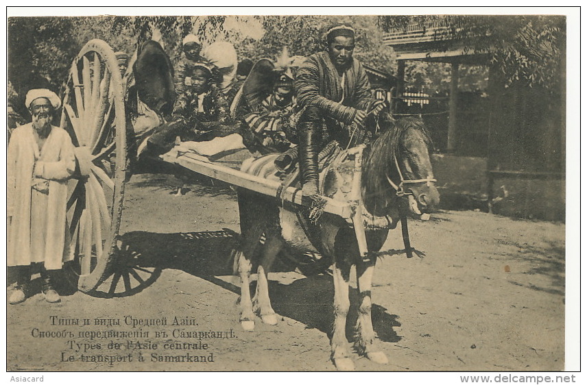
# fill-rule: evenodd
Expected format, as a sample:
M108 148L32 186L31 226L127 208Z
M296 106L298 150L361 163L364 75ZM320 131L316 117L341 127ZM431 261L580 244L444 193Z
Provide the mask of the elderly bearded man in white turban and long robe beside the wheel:
M60 107L50 90L27 93L32 122L16 127L8 144L7 224L8 266L17 273L16 288L9 302L19 303L29 295L31 267L42 263L43 294L48 302L59 302L52 277L71 260L66 227L67 179L75 170L74 148L69 134L51 125Z

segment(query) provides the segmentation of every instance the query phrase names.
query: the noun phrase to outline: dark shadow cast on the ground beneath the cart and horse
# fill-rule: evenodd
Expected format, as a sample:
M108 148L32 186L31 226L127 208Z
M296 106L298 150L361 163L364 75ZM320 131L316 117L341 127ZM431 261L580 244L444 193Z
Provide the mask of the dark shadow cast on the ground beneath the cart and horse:
M240 294L239 286L218 278L232 275L232 249L237 245L238 239L239 234L230 229L175 234L129 232L121 236L119 247L123 256L119 258L118 265L112 269L113 275L108 277L92 295L122 297L138 293L154 283L164 269L184 271ZM126 275L127 278L124 278L125 273L122 273L122 278L118 277L122 291L112 289L112 282L114 282L112 277L131 266L135 272L138 272L136 275L143 275L145 271L150 272L148 279L135 282L135 274L130 273ZM293 271L294 268L291 262L284 259L283 262L276 261L273 271L287 272ZM126 290L128 282L125 280L130 280L130 290ZM302 277L291 284L271 280L269 290L274 310L280 316L295 319L307 325L307 328L315 328L326 334L331 333L334 297L331 275L326 273ZM351 289L351 303L357 303L357 298L356 290ZM348 336L354 333L357 314L358 309L351 307L347 322ZM382 306L373 305L373 327L380 340L392 343L400 340L393 330L394 326L400 325L397 318L398 316L389 314Z

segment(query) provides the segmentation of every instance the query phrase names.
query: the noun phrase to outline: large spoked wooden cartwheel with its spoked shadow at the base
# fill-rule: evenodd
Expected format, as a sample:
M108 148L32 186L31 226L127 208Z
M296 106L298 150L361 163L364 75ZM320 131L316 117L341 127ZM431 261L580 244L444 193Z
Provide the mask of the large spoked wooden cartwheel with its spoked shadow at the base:
M84 293L128 295L154 279L125 256L118 239L126 173L126 119L118 62L110 46L90 40L73 64L60 126L73 140L77 170L67 218L75 259L68 275ZM127 253L128 254L128 253Z

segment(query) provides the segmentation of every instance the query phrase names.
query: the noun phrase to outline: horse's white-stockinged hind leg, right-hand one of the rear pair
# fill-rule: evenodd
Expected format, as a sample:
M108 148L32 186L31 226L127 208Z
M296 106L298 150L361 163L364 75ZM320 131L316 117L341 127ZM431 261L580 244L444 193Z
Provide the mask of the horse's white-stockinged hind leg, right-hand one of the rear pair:
M283 247L283 243L276 236L267 236L265 245L263 246L263 256L261 264L257 269L257 286L255 293L256 306L259 309L259 316L261 321L268 325L276 325L277 316L271 306L269 299L269 284L267 282L267 274L271 271L271 266L275 257Z

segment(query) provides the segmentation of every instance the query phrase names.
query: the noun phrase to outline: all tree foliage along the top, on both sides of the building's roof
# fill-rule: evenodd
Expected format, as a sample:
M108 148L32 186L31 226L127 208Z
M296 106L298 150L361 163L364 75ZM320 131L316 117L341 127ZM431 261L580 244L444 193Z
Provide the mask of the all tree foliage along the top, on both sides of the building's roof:
M357 29L355 56L377 69L394 73L394 52L383 44L385 32L416 24L446 27L473 53L490 53L505 84L514 82L555 88L565 52L563 16L92 16L13 17L8 19L8 80L21 95L23 88L50 86L58 91L83 45L100 38L115 51L134 52L145 39L160 32L165 50L175 62L181 40L196 34L204 45L230 41L241 58L275 58L287 47L291 55L324 49L323 34L333 23ZM446 38L446 36L438 36ZM448 67L409 62L406 75L416 88L446 88ZM462 69L462 84L482 88L486 73Z

